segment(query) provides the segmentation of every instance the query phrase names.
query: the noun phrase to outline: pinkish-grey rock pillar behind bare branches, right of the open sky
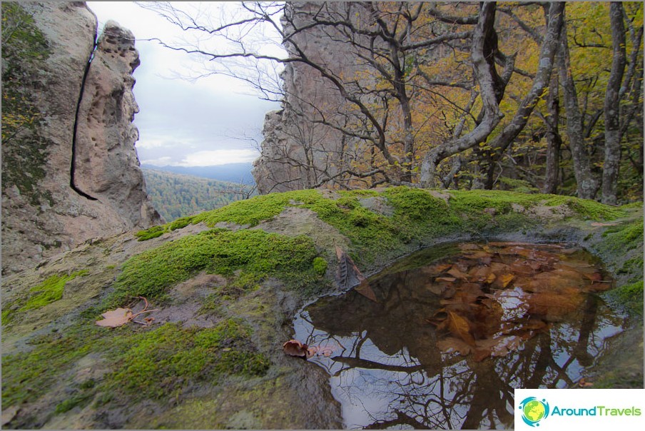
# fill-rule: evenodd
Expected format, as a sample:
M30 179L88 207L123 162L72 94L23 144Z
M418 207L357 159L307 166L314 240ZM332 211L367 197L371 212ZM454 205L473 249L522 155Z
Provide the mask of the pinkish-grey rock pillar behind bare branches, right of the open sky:
M285 31L293 25L306 27L314 13L341 13L350 5L328 2L320 11L314 2L290 2L283 19ZM293 36L293 43L317 64L323 64L336 76L357 73L357 59L346 44L330 37L329 29L312 26ZM285 48L293 51L292 44ZM253 177L260 193L291 191L319 185L322 178L335 176L352 161L356 151L352 139L327 126L345 126L354 121L345 101L330 81L308 65L289 63L283 72L283 109L267 114L262 153L255 161Z

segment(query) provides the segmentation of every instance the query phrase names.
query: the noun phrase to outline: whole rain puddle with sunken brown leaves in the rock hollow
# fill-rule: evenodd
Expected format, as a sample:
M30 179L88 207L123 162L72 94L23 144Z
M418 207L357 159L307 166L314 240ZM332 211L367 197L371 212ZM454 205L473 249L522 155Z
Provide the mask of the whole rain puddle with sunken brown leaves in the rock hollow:
M622 331L594 293L597 260L567 245L422 250L295 318L294 338L330 374L345 427L513 426L516 387L574 387ZM444 254L445 255L445 254Z

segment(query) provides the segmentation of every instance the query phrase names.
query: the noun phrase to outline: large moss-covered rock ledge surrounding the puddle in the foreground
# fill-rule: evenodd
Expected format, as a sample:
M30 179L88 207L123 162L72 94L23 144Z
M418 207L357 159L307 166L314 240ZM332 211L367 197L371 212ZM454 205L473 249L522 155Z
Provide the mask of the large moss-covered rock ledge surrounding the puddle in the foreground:
M311 227L305 217L318 221ZM283 223L281 234L273 233L276 223ZM4 410L14 411L6 426L342 427L325 373L286 358L280 348L298 308L338 291L335 246L370 274L447 240L577 243L604 260L619 285L607 297L637 326L642 231L642 205L397 187L258 196L134 237L84 245L3 280L3 293L11 295L3 294L2 304L2 400ZM61 284L83 268L91 274L78 278L82 283ZM34 299L39 306L29 308L39 285L57 286L56 298L66 298L72 285L98 295L68 305ZM136 296L161 309L148 315L156 318L151 325L93 324L108 308L139 306ZM5 310L18 309L5 319ZM50 310L56 319L48 323L41 316ZM34 313L34 324L18 325ZM642 375L632 377L642 386ZM208 415L200 406L208 406Z

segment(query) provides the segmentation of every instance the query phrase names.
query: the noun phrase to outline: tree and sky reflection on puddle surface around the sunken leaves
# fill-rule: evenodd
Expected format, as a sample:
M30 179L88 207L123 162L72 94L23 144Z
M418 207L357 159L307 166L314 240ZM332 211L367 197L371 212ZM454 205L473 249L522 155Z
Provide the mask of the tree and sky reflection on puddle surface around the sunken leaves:
M588 274L589 283L598 280L586 269L591 268L588 264L591 256L581 250L540 245L521 251L517 245L514 249L501 243L497 245L492 249L484 246L493 256L492 260L480 253L481 250L472 252L472 248L466 248L471 250L465 253L470 253L471 263L479 265L470 274L494 265L495 256L502 259L498 262L507 262L509 266L522 259L528 265L534 257L525 251L529 249L539 250L545 262L541 268L535 267L537 270L531 277L521 278L516 274L512 283L504 285L504 292L529 291L522 285L528 285L530 280L542 280L541 276L535 277L537 273L562 273L559 266L560 269L554 270L556 261L557 265L559 262L568 265L567 268L585 268L583 272ZM509 250L523 256L511 255ZM440 314L442 307L451 301L445 299L445 292L450 289L437 290L437 277L457 264L462 269L468 268L464 254L435 260L430 265L429 262L420 264L424 253L412 256L407 260L408 265L398 263L393 268L399 269L390 268L370 278L377 302L352 291L318 300L295 319L294 338L326 348L327 352L332 350L330 357L318 355L310 361L330 373L332 393L342 404L347 427L512 427L515 387L572 387L584 368L592 365L599 355L604 340L621 332L623 316L609 310L593 293L582 293L577 294L580 300L576 309L567 308L566 312L560 310L554 314L544 307L521 308L524 315L514 316L515 321L542 319L547 326L520 338L517 350L483 359L442 353L437 342L447 335L429 323L428 318ZM593 270L598 273L596 268ZM557 283L549 279L549 283L571 284L572 275L567 276L569 279L556 280ZM445 280L442 277L438 283ZM472 280L464 278L462 283L466 282ZM494 285L486 282L480 285L487 298L494 298L493 293L499 296L502 291L495 292ZM459 287L457 295L453 289L451 298L456 298L458 292ZM524 294L527 298L530 296ZM504 302L503 298L499 300Z

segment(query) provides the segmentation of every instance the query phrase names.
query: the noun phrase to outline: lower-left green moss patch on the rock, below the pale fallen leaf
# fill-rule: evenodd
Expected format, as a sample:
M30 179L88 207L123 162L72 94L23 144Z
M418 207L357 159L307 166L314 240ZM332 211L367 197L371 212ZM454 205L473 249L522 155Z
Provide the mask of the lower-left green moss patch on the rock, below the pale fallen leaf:
M250 330L232 319L205 329L166 323L122 340L121 350L107 387L136 398L161 398L223 375L263 375L270 365L253 348Z

